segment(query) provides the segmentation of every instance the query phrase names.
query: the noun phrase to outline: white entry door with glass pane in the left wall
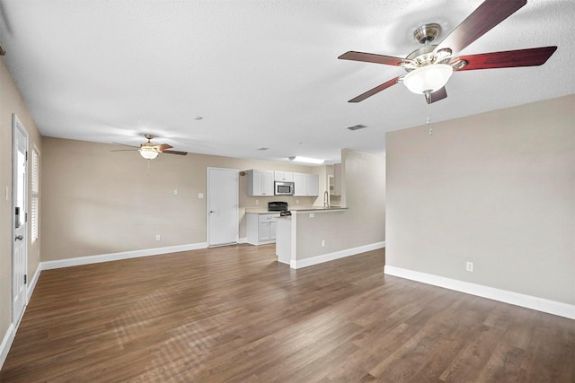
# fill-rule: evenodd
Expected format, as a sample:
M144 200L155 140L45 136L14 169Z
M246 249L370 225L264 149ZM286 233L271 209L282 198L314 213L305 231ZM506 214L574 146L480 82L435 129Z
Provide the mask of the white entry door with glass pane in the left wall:
M22 318L26 305L28 262L28 133L13 115L13 324Z

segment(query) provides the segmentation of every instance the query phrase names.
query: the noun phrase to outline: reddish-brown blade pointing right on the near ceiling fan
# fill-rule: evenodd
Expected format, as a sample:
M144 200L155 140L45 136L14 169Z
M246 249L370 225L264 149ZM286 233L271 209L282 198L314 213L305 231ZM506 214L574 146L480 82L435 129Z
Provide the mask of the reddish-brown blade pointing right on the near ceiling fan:
M465 61L461 69L454 70L471 71L473 69L494 69L494 68L512 68L516 66L535 66L542 65L557 50L557 47L528 48L518 50L506 50L503 52L483 53L479 55L469 55L457 57L452 63Z

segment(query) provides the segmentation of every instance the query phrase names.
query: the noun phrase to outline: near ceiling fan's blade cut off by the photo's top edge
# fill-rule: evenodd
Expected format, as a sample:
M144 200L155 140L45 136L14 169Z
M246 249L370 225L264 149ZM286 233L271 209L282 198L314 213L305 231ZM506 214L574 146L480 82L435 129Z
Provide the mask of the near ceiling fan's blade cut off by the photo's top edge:
M437 53L446 48L454 53L461 51L525 4L527 0L485 0L433 51Z

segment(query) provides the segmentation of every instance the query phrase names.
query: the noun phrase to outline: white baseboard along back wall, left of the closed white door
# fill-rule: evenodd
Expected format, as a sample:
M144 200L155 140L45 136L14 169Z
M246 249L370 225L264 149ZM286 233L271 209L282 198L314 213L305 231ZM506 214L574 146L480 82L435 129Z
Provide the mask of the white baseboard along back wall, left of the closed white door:
M42 270L50 270L61 267L90 265L102 262L118 261L120 259L159 256L162 254L177 253L179 251L198 250L200 248L208 248L208 243L207 242L192 243L190 245L168 246L165 248L145 248L142 250L123 251L121 253L110 253L98 256L75 257L68 259L60 259L57 261L46 261L41 263L41 267Z

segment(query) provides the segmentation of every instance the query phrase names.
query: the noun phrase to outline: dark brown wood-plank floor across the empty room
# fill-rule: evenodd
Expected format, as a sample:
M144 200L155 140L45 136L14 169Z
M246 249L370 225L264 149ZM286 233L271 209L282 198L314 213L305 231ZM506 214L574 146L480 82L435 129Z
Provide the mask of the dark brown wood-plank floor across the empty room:
M44 271L1 381L575 381L575 321L238 245Z

